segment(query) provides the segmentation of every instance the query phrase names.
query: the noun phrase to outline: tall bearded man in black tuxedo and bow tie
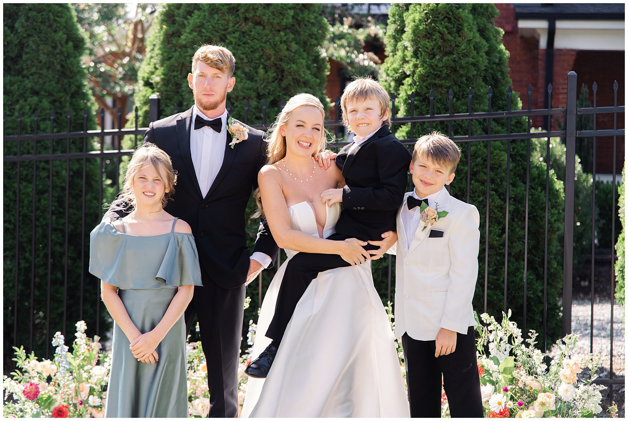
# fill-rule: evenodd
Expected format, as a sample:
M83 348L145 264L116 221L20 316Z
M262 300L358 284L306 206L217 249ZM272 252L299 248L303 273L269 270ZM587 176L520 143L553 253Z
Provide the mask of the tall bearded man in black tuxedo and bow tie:
M151 123L144 138L166 151L178 172L176 194L166 210L192 227L203 282L194 289L185 320L189 331L198 315L207 359L209 417L223 418L238 413L246 284L272 266L269 256L278 251L264 221L249 259L244 211L251 189L257 187L257 172L266 163L266 141L263 131L230 118L225 109L227 92L236 84L235 62L221 46L198 48L188 74L194 106ZM122 213L117 209L105 217L116 219Z

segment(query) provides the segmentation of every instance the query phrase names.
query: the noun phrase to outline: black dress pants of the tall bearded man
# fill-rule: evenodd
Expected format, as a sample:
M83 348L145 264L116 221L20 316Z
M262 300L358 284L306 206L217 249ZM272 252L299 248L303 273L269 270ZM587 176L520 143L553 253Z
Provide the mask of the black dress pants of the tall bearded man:
M225 289L203 276L203 287L185 310L187 331L198 315L200 339L207 360L210 418L237 418L237 370L240 361L246 286Z

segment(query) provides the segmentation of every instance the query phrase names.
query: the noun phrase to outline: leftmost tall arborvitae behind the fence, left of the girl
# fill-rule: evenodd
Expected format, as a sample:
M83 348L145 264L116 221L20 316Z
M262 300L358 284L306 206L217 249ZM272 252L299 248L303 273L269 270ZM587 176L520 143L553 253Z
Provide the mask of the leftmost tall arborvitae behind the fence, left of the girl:
M95 129L93 98L87 86L80 58L85 39L68 4L4 4L4 134L18 132L18 114L22 114L21 133L50 133L50 115L54 112L56 133ZM38 121L33 114L38 112ZM87 149L92 150L86 139ZM84 139L40 140L36 153L83 151ZM35 152L35 141L22 141L21 155ZM4 143L4 156L16 155L14 142ZM52 165L52 183L50 168ZM84 319L87 334L96 327L96 306L100 303L99 283L89 275L89 232L100 219L99 160L85 161L85 189L82 183L84 160L23 161L4 163L4 354L10 360L15 343L30 349L31 316L33 350L44 356L46 335L51 341L56 331L72 341L74 324ZM19 171L18 171L19 168ZM66 188L66 177L69 187ZM17 180L19 177L19 234ZM33 180L35 178L35 180ZM35 185L33 182L35 181ZM35 187L36 186L36 187ZM49 187L51 200L49 198ZM33 191L35 189L35 191ZM67 195L67 199L66 199ZM84 196L85 195L85 196ZM85 252L82 254L82 199L85 197ZM35 204L33 204L35 200ZM68 218L66 219L66 200ZM49 207L50 217L49 217ZM51 221L51 233L48 223ZM67 288L65 286L65 229L68 229ZM48 260L48 244L50 261ZM16 244L17 243L17 244ZM18 255L16 256L16 246ZM34 252L34 254L33 254ZM82 257L84 260L82 261ZM48 263L50 262L50 313L48 314ZM16 265L16 263L18 263ZM16 267L17 266L17 267ZM16 276L16 270L18 270ZM81 279L83 278L83 288ZM17 333L14 331L14 293L18 290ZM34 306L31 307L31 282ZM83 290L83 291L82 291ZM81 293L84 305L81 309ZM66 324L63 325L64 295L67 294ZM106 310L100 311L100 331L106 331ZM46 319L50 318L50 325ZM50 346L50 353L54 347Z

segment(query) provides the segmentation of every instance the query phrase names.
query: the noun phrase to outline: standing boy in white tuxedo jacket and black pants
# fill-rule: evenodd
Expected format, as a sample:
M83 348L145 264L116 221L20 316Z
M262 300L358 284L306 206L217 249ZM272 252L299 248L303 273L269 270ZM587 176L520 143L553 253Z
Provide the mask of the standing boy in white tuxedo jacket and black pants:
M399 208L398 241L389 251L397 254L395 336L403 344L412 417L440 417L441 375L452 417L484 416L471 305L480 216L445 189L459 160L458 147L440 133L416 141L415 188Z

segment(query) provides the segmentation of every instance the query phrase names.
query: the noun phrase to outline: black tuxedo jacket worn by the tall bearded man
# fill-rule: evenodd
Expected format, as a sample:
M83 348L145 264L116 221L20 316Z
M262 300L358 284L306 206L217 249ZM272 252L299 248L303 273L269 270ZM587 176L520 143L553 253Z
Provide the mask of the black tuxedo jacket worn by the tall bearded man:
M190 152L192 124L192 108L155 121L149 125L144 143L154 143L166 151L178 173L173 200L168 201L165 209L192 227L203 282L209 279L220 287L236 288L246 282L249 270L245 209L251 188L257 188L257 173L266 164L266 136L263 131L246 126L249 137L231 148L231 135L225 130L222 167L202 197ZM111 212L121 216L123 210L111 209L105 217L112 216ZM273 259L277 254L278 247L266 221L259 227L255 251Z

